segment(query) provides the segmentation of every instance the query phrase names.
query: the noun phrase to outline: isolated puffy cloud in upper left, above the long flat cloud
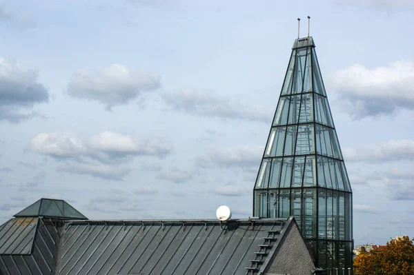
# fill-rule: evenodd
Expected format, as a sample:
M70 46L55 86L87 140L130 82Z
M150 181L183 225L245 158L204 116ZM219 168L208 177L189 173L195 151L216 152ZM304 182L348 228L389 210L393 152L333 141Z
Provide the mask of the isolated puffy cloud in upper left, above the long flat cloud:
M156 90L161 86L160 80L157 74L112 64L99 72L75 72L68 84L68 94L79 99L99 101L110 110L112 106L137 99L141 92Z

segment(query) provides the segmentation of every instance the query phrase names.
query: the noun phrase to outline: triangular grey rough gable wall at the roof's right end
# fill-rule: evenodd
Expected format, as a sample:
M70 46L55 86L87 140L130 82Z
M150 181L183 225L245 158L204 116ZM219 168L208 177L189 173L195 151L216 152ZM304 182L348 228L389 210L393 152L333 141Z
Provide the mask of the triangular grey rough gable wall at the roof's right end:
M302 238L296 223L290 223L282 243L273 254L273 263L265 274L310 275L313 258Z

